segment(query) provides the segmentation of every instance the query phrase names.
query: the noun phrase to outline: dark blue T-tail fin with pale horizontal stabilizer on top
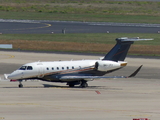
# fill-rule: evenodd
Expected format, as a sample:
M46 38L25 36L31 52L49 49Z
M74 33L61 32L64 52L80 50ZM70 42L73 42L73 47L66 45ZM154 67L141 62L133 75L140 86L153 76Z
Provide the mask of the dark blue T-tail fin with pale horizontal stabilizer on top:
M126 55L128 53L128 50L131 46L131 44L134 43L134 41L141 41L141 40L153 40L153 39L139 39L139 37L136 38L128 38L128 37L122 37L117 38L117 44L106 54L106 56L103 58L103 60L111 60L111 61L124 61L126 58Z

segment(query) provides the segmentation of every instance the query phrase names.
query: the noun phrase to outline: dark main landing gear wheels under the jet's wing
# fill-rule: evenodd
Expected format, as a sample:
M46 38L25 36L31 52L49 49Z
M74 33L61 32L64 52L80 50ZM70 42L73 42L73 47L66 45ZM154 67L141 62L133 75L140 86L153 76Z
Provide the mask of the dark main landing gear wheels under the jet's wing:
M69 85L69 87L74 87L75 85L79 85L81 88L86 88L88 87L88 83L85 80L81 80L81 81L74 81L74 82L68 82L67 85Z

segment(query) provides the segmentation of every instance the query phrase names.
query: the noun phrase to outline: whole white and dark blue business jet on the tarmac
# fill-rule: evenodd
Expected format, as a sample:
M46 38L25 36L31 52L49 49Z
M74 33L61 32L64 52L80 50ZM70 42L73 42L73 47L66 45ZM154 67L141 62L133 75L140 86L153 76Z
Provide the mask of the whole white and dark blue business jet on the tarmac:
M134 77L142 65L130 76L104 76L107 73L119 70L127 65L124 61L128 50L135 41L153 40L137 38L117 38L116 45L99 60L77 61L51 61L33 62L22 65L11 74L4 74L6 79L19 81L19 87L23 87L23 80L39 79L48 82L66 82L69 87L80 85L85 88L87 82L99 78L128 78Z

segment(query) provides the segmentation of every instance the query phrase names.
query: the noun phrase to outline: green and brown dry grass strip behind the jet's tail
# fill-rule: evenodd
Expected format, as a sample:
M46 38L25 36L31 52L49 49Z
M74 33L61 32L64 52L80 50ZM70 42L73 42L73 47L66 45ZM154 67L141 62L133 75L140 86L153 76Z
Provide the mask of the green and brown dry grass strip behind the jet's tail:
M2 34L0 44L13 44L21 50L106 53L115 45L115 38L125 36L154 39L135 42L129 54L160 55L159 34Z

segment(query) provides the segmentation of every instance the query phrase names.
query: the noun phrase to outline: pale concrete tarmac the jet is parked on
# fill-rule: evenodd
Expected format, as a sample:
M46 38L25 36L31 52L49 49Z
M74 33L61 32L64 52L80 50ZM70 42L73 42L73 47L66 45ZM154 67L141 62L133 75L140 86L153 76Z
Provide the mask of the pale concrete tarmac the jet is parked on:
M128 66L108 76L130 75L143 64L136 77L97 79L83 89L39 80L24 81L24 88L18 88L18 82L4 81L2 76L39 60L99 57L102 56L1 51L0 120L159 120L159 59L127 57Z

